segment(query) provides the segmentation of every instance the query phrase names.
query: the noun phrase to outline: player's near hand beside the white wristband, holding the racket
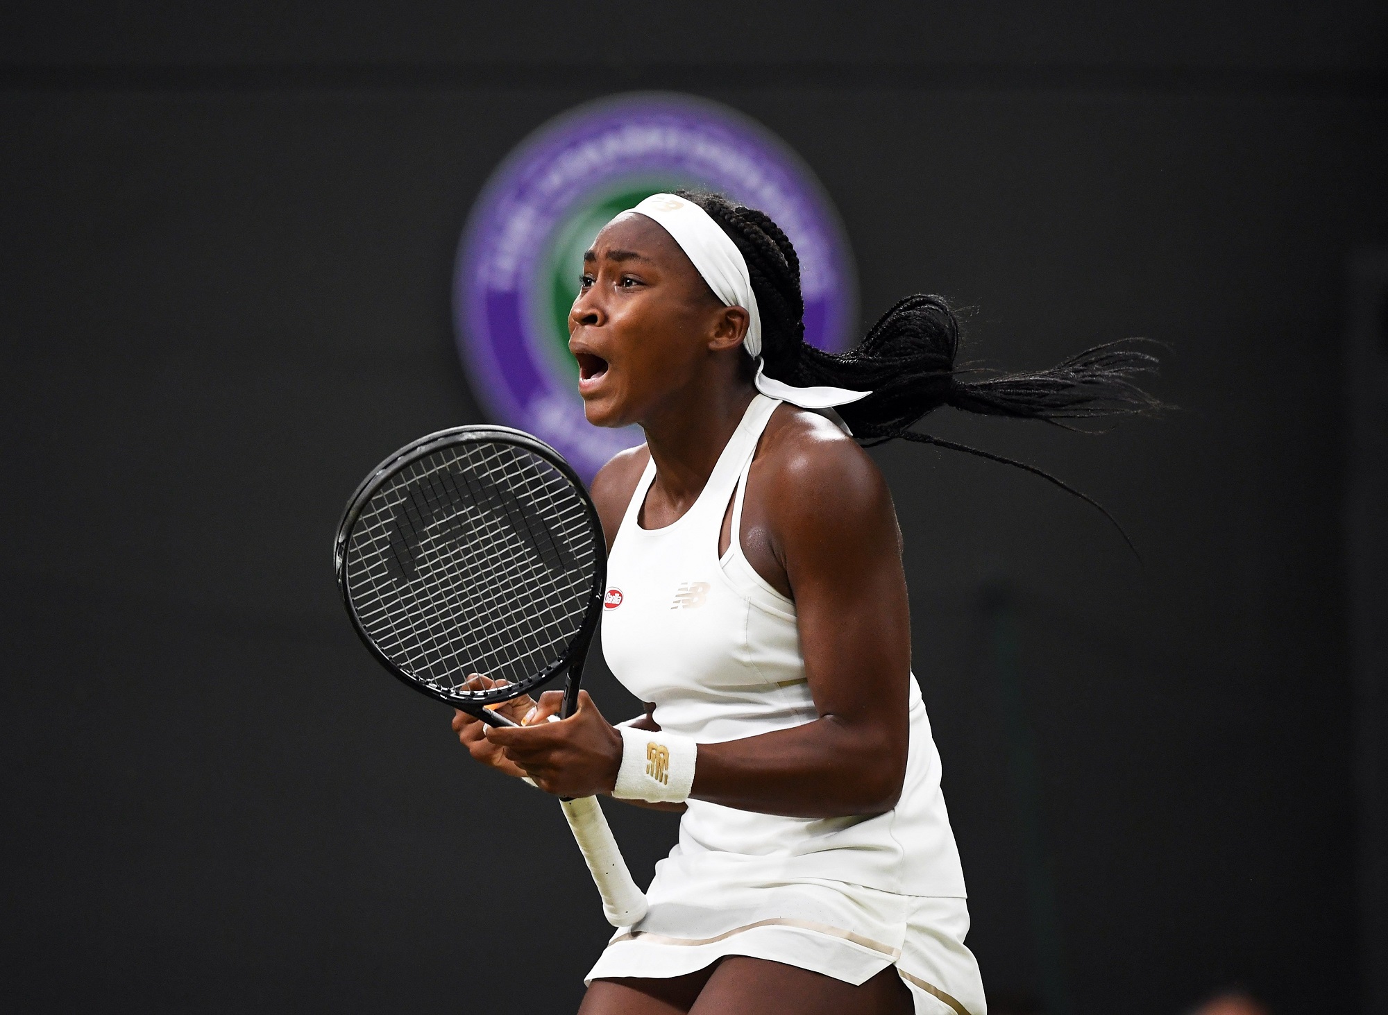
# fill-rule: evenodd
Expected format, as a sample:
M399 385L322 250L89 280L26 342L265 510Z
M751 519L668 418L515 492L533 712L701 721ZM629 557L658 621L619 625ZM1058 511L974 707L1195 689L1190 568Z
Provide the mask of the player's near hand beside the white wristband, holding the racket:
M545 793L611 793L622 767L622 734L602 718L587 691L579 692L579 707L569 718L550 722L562 703L562 692L544 692L526 725L487 727L487 742L501 747L505 758Z

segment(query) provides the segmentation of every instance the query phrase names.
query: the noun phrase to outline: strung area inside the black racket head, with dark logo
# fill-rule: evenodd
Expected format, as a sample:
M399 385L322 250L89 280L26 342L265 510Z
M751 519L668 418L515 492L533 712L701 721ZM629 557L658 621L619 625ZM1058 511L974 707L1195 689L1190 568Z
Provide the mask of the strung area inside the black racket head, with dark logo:
M348 541L348 588L378 648L468 696L483 673L534 684L577 634L597 566L584 501L530 452L464 444L376 491Z

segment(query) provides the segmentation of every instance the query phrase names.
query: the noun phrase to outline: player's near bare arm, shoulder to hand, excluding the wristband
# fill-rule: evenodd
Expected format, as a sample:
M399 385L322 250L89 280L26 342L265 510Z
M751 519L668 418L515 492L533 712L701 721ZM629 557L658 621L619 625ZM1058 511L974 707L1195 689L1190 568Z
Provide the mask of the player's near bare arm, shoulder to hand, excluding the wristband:
M906 767L911 630L886 483L855 444L813 426L769 430L754 476L744 546L758 571L795 599L819 717L700 745L691 796L793 817L890 810ZM594 484L595 499L598 492ZM600 513L607 514L601 502ZM544 731L489 729L486 736L550 792L611 792L620 740L597 724L607 725L595 709L580 709ZM561 750L561 740L583 740L593 752L580 758Z

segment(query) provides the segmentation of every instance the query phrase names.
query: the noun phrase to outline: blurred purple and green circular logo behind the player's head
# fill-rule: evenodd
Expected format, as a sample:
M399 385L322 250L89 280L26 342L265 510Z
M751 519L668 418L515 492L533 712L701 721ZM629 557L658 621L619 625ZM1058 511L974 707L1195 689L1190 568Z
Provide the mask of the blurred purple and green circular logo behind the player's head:
M809 168L763 126L726 105L658 93L550 121L511 153L472 209L454 322L483 408L552 444L586 478L643 437L583 417L568 349L583 251L613 215L679 187L770 215L799 254L805 340L831 351L849 344L856 280L838 215Z

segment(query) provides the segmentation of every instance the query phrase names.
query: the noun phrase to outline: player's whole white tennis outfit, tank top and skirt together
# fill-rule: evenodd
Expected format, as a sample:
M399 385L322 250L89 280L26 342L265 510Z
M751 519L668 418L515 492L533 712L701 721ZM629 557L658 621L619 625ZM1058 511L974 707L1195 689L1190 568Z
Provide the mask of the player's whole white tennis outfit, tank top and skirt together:
M747 470L772 412L756 395L694 506L637 524L647 465L608 560L602 652L655 721L720 743L818 718L795 605L741 550ZM733 539L718 556L729 498ZM901 801L886 814L786 818L690 800L679 844L655 868L651 908L618 930L587 980L666 978L751 955L862 983L895 965L917 1015L985 1015L963 939L963 872L940 792L940 754L915 678Z

